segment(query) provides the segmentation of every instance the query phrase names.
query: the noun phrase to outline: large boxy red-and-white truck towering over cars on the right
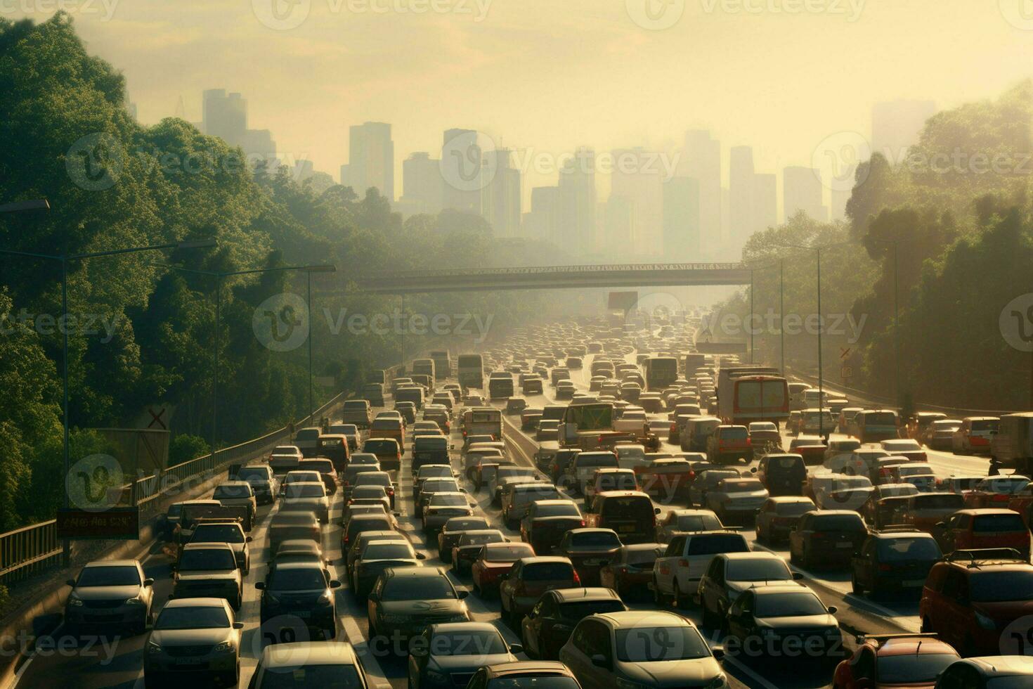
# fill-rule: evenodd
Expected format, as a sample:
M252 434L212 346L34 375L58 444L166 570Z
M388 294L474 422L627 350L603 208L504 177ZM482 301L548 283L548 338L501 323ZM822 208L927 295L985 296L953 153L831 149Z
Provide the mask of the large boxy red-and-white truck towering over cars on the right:
M724 424L774 421L778 426L789 418L789 384L771 367L721 367L717 402L717 415Z

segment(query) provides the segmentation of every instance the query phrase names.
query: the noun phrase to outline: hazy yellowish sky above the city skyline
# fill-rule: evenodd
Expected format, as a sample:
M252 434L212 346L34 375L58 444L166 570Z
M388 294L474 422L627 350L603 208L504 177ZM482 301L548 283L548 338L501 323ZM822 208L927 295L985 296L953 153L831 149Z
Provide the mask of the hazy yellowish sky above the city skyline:
M0 12L43 20L57 1ZM725 175L740 144L776 171L809 164L829 134L869 135L876 101L949 107L1033 71L1028 0L60 1L123 70L143 122L181 96L199 120L202 89L239 91L283 157L335 178L348 125L389 122L399 194L401 161L436 155L449 127L540 156L674 148L708 127ZM531 171L525 196L555 183Z

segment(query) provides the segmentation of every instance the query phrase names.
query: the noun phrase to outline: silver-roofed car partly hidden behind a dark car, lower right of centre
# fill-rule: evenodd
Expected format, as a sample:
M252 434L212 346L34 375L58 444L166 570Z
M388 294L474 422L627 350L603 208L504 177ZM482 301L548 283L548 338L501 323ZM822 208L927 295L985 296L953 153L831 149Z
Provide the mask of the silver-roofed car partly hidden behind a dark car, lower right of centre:
M707 565L694 600L702 608L703 625L719 627L739 596L757 586L796 586L803 574L793 573L774 553L719 553Z

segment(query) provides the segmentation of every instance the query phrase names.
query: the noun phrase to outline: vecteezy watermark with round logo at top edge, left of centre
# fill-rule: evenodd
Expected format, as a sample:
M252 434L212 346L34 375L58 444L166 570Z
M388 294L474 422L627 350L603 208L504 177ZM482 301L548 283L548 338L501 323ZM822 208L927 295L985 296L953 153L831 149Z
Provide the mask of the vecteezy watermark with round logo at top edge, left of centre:
M325 0L331 14L458 14L480 23L494 0ZM296 29L312 13L312 0L251 0L258 22L276 31Z

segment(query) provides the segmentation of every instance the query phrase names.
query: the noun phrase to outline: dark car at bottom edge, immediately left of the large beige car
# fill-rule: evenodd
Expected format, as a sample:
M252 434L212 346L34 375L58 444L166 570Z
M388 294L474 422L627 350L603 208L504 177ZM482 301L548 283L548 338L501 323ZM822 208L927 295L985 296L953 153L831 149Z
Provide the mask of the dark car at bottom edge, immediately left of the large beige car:
M466 689L479 667L516 662L523 651L488 622L432 624L409 644L409 687Z

